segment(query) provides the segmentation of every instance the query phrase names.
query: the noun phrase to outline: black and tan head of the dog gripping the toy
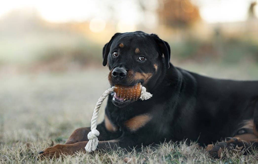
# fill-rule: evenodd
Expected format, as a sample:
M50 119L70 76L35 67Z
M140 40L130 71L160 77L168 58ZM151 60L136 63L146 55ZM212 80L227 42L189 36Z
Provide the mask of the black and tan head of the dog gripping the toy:
M110 85L133 86L141 83L153 88L163 69L170 67L170 46L156 34L141 31L116 33L103 47L103 65L108 65ZM113 94L118 107L132 103Z

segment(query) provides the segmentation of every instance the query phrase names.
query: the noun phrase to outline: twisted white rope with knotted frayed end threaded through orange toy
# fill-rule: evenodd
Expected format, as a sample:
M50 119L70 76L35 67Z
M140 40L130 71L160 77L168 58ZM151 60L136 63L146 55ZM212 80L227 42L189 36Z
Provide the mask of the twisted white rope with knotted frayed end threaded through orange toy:
M93 111L93 115L92 115L92 119L91 119L91 131L88 133L88 143L85 146L85 150L86 152L91 152L96 150L97 146L98 146L98 136L99 136L99 131L96 129L97 128L97 118L98 118L98 114L99 114L99 108L102 104L102 102L104 101L104 99L111 93L114 91L114 86L107 89L99 98L98 102L95 105L95 109ZM149 98L152 97L152 94L150 94L149 92L146 91L146 88L144 86L142 86L142 91L141 91L141 96L140 99L141 100L147 100Z

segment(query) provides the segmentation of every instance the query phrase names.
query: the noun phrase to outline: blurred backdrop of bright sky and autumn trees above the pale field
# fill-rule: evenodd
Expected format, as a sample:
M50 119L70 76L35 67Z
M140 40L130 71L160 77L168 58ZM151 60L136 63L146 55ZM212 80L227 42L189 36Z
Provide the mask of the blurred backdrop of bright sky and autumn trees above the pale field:
M0 6L2 74L101 67L102 47L116 32L156 33L171 62L258 61L254 0L15 1Z

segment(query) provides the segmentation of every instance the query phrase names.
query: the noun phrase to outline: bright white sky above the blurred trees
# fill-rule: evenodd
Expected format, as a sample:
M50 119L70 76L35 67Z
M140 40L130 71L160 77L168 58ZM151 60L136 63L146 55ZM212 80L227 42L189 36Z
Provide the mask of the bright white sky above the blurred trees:
M207 23L244 21L248 17L250 2L254 0L192 0L199 7L200 15ZM155 10L157 0L142 0L149 10L143 17L138 0L8 0L0 5L0 17L13 9L35 8L41 16L51 22L89 20L91 30L103 30L107 21L115 21L117 28L133 30L144 21L147 27L157 25ZM258 15L258 7L255 7Z

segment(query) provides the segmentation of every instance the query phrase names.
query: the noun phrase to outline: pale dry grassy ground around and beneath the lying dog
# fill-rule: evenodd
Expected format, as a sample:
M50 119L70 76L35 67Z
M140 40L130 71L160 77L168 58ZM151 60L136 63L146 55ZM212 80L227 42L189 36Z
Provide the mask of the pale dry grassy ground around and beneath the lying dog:
M258 80L257 65L181 64L187 70L217 78ZM212 159L183 141L160 143L132 152L78 152L64 159L37 160L38 152L64 143L73 130L90 126L96 101L109 87L108 70L24 73L0 76L0 163L256 163L258 152L226 153ZM104 118L103 103L98 122ZM178 144L179 143L179 144ZM194 145L195 143L192 143Z

